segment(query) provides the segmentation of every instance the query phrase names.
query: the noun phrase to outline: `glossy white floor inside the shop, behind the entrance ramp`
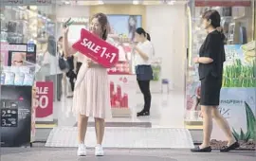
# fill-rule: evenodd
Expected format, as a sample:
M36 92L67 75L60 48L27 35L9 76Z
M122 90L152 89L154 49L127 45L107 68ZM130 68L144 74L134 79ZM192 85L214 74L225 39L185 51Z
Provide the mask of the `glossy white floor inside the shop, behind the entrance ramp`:
M151 122L152 127L184 128L184 96L172 91L168 94L152 94L151 116L137 117L137 112L143 106L143 97L137 94L134 107L131 107L132 117L113 117L106 122ZM76 117L71 113L72 98L64 98L54 105L55 118L58 126L74 126ZM90 118L89 121L94 121Z

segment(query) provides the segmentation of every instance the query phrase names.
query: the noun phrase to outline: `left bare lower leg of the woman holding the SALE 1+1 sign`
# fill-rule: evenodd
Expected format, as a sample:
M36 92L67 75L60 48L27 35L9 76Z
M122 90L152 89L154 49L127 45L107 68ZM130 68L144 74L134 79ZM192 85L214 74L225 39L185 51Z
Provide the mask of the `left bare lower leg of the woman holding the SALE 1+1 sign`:
M88 122L88 116L82 116L79 115L79 119L78 119L78 141L79 143L83 143L84 142L84 137L86 134L86 130L87 130L87 122Z

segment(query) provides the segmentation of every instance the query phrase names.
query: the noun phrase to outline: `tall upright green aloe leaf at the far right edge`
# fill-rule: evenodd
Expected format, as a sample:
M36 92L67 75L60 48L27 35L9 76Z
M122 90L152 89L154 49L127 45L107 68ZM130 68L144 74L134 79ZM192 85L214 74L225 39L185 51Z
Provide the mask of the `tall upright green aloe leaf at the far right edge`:
M250 138L255 139L255 116L246 101L245 106L247 113L247 131L250 133Z

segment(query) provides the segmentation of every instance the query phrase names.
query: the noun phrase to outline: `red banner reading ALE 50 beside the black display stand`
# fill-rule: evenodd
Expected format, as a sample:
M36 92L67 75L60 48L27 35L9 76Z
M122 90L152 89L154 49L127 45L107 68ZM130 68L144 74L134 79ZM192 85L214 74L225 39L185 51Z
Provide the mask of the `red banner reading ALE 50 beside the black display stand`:
M53 114L53 82L36 82L36 117L44 118Z

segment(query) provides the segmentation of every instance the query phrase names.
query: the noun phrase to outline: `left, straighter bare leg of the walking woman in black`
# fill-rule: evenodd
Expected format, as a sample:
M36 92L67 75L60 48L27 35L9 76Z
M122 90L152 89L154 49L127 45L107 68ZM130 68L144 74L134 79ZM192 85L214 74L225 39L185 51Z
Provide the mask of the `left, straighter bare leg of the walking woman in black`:
M204 149L210 146L210 134L212 132L212 116L210 106L201 106L201 112L203 115L203 143L200 145L200 149Z

